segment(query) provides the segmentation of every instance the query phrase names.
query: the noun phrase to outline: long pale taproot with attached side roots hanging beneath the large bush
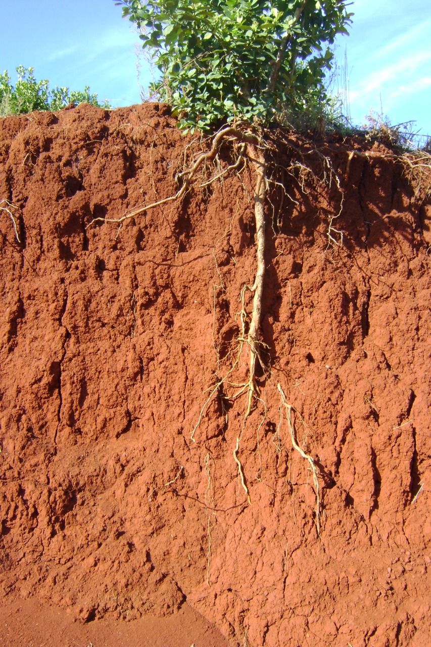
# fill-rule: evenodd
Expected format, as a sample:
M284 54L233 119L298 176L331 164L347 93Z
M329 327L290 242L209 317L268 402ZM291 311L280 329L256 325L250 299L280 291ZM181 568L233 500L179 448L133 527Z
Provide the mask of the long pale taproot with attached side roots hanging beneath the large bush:
M267 133L268 135L268 133ZM245 405L245 417L247 418L254 406L255 402L261 400L260 398L260 384L257 377L258 368L260 365L263 375L268 377L270 368L265 364L263 358L263 342L260 340L260 325L261 325L261 316L262 316L262 300L263 292L265 289L265 247L267 244L267 223L265 217L265 204L267 203L267 193L269 182L272 182L276 186L280 184L276 177L269 177L268 167L271 166L275 168L282 169L282 173L287 172L288 175L294 178L299 184L300 191L303 193L307 192L306 183L311 180L317 184L326 184L331 188L331 184L335 182L337 184L337 190L340 194L340 204L337 208L337 213L331 215L329 219L329 226L327 230L328 245L340 245L342 243L342 231L335 228L335 221L342 212L343 202L344 202L344 192L340 186L340 180L338 179L337 173L335 173L331 160L329 157L324 155L318 149L310 149L305 153L300 151L300 149L294 146L294 143L291 142L283 134L277 134L275 137L272 137L269 134L265 140L261 137L261 134L248 129L245 124L236 124L234 126L224 126L222 127L214 137L210 138L210 148L206 151L200 152L197 156L192 159L191 162L188 162L190 159L190 150L193 146L196 145L194 140L184 149L184 160L183 160L183 170L181 170L176 175L176 180L181 184L179 190L166 198L158 199L157 201L151 203L145 203L138 205L133 210L127 211L124 215L118 218L106 218L106 217L97 217L94 218L89 225L94 225L94 223L114 223L118 225L118 232L122 225L129 219L133 219L135 216L148 212L149 210L163 206L167 203L175 203L176 201L181 201L181 199L188 193L192 188L205 188L206 186L212 184L212 182L223 181L223 178L228 175L228 173L239 172L245 168L246 165L249 165L249 168L253 171L254 175L254 216L256 221L256 275L254 278L254 283L252 285L244 285L240 294L241 301L241 312L239 313L241 317L242 324L242 333L238 338L238 354L234 359L233 364L228 368L227 372L222 378L216 378L216 383L210 389L208 389L208 397L206 398L203 407L199 413L199 419L195 424L191 440L194 441L194 435L199 424L203 419L203 416L206 413L208 404L212 399L220 393L221 388L225 382L228 381L230 375L236 367L238 367L241 353L244 349L247 349L249 353L249 371L248 379L245 384L230 384L230 386L237 386L239 388L237 393L234 395L226 396L230 400L234 400L239 395L246 395L246 405ZM223 143L228 142L232 145L233 149L233 160L231 164L222 168L221 160L219 158L219 153ZM277 146L280 142L285 143L289 148L294 152L296 159L291 160L289 166L282 167L280 164L274 163L274 157L277 150ZM273 154L274 153L274 154ZM320 164L322 166L322 177L316 177L315 173L307 164L305 157L309 155L315 155L318 157ZM208 173L208 169L210 172ZM319 173L320 175L320 173ZM209 177L208 177L209 176ZM284 177L284 176L283 176ZM298 202L285 191L284 182L280 184L282 187L282 195L280 198L280 204L278 204L278 212L275 216L274 208L274 217L279 221L280 212L283 208L283 201L287 197L291 202L298 204ZM331 206L329 206L331 209ZM117 236L118 236L117 232ZM217 272L219 269L217 267ZM220 276L220 272L219 272ZM221 278L221 277L220 277ZM221 287L223 287L223 280L221 280ZM245 295L249 291L252 294L252 312L247 313L246 304L245 304ZM214 288L214 305L216 303L216 287ZM213 318L213 337L214 337L214 318ZM217 345L215 344L215 350L217 355L217 371L216 375L219 375L220 368L220 358L218 354Z

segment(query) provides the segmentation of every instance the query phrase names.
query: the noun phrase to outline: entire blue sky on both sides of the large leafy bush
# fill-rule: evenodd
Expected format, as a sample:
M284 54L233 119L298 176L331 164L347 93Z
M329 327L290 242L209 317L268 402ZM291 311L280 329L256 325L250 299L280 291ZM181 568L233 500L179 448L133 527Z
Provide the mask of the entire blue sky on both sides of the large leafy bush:
M392 124L416 120L431 134L430 0L356 0L350 10L351 34L338 39L336 55L342 64L346 49L353 122L382 109ZM138 36L113 0L0 0L0 24L0 71L12 82L17 65L31 65L51 87L89 85L114 106L140 102Z

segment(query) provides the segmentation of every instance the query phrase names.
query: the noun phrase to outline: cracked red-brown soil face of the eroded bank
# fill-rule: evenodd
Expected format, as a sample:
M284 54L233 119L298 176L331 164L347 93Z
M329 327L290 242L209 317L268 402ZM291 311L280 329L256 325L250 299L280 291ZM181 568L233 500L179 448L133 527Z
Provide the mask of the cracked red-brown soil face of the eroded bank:
M274 185L271 375L247 419L220 389L193 442L254 278L247 170L116 236L87 225L177 191L168 107L0 124L0 645L59 644L58 617L67 647L428 647L431 206L397 160L346 181L364 142L289 135L331 160L343 243L334 182Z

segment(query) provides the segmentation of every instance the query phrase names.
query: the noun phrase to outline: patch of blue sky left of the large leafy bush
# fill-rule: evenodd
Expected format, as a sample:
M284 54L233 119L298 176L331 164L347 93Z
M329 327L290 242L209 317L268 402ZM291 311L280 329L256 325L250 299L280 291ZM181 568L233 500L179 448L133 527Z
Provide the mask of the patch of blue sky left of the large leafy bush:
M50 87L82 90L99 100L140 103L133 25L113 0L0 0L0 69L16 82L17 65L34 67Z

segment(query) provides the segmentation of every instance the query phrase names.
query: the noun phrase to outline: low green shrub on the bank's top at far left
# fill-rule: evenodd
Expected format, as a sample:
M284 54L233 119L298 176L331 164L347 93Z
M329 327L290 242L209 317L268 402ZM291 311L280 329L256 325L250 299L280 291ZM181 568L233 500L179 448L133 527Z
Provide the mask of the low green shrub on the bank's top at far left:
M41 110L61 110L69 104L87 103L96 107L111 107L106 101L99 104L97 94L91 94L88 85L82 92L71 92L68 87L58 86L50 90L47 79L36 80L32 67L19 65L16 71L18 80L15 86L10 83L7 70L0 74L0 117L25 115Z

